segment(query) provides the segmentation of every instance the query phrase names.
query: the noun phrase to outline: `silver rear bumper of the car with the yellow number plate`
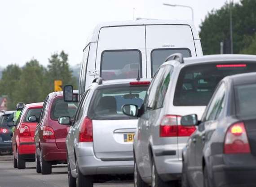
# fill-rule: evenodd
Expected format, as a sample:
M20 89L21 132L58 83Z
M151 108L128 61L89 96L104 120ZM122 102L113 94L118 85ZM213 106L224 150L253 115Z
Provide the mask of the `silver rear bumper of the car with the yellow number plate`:
M92 143L75 145L79 170L84 175L133 174L134 161L102 161L95 157Z

